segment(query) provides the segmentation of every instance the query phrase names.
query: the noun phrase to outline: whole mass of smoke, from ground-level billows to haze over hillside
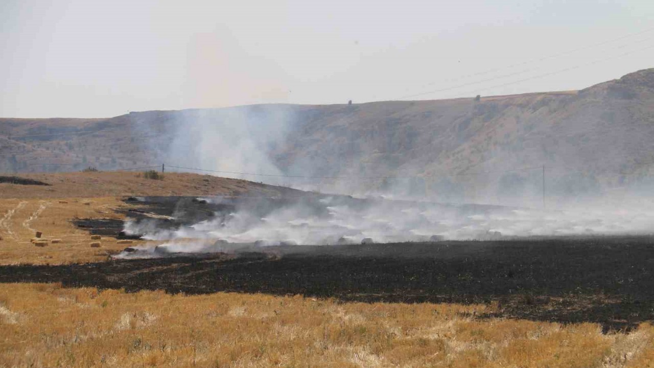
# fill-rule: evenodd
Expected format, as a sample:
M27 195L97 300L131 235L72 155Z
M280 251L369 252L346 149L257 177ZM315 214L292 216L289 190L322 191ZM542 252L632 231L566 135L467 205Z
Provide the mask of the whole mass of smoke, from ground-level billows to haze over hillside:
M235 244L332 245L651 232L654 211L644 203L645 196L627 200L607 193L609 176L596 168L581 171L556 166L568 164L576 151L550 147L564 140L554 139L558 132L539 128L542 117L529 113L537 111L537 105L532 109L470 104L470 111L461 103L451 113L436 107L412 111L413 103L397 111L389 103L253 105L171 113L172 118L157 122L172 137L157 143L164 147L166 162L228 172L305 176L218 174L356 198L316 195L290 202L260 198L238 202L213 219L175 229L140 221L128 223L126 231L165 242L159 251L173 253ZM503 109L518 109L515 113L522 117L509 124ZM373 120L377 117L385 120ZM160 129L152 119L144 121L148 121L145 130ZM506 128L502 135L489 132L483 140L473 139L478 132L505 123L513 128ZM518 133L518 138L512 136ZM533 162L547 164L547 175L542 165ZM651 192L649 187L644 188L647 192ZM189 245L188 239L195 243Z

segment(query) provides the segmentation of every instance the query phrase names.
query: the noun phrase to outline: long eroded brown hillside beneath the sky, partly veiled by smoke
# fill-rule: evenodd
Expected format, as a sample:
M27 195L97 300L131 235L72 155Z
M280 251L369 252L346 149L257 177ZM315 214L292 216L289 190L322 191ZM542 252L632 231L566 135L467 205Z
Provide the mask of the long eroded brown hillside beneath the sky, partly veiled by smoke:
M0 119L0 135L31 135L2 138L0 170L167 162L232 172L349 177L239 176L322 191L538 202L543 165L551 196L646 183L654 162L653 101L654 69L647 69L580 91L479 101L253 105L111 119ZM88 133L66 135L73 131ZM53 133L61 135L39 136ZM402 178L379 178L383 176Z

